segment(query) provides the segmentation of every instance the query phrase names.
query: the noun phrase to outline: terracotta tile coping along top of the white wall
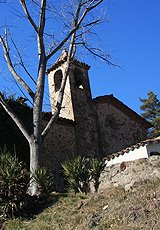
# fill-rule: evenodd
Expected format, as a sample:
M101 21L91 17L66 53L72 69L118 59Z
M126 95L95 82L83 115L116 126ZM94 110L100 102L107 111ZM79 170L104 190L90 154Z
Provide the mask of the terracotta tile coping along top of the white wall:
M110 161L111 159L114 159L115 157L118 157L120 155L124 155L125 153L128 153L129 151L134 151L135 149L139 149L141 146L145 146L147 144L152 144L152 143L154 143L154 144L160 143L160 137L141 141L140 143L137 143L136 145L132 145L131 147L128 147L124 150L121 150L120 152L113 153L113 154L103 158L103 160Z

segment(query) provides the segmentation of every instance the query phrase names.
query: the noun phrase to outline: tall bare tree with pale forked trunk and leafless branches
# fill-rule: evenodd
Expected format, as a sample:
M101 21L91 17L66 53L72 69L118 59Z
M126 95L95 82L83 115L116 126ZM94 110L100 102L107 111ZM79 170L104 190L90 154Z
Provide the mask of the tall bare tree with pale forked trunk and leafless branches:
M22 6L23 14L16 12L17 17L22 17L22 19L25 18L25 20L28 20L32 30L34 31L34 36L36 35L35 40L38 47L38 67L36 80L33 79L33 76L29 74L29 71L23 62L23 56L14 43L9 30L5 29L4 36L0 36L0 42L12 76L19 84L21 84L33 101L32 133L27 130L20 118L8 106L1 93L0 103L17 124L20 131L23 133L29 143L30 170L33 172L41 164L42 143L59 116L69 65L75 55L75 51L79 51L79 49L83 47L91 54L105 60L108 64L114 65L114 63L112 62L110 55L102 52L100 47L91 47L87 44L89 36L95 36L92 30L93 27L99 24L101 21L104 21L104 19L101 19L100 17L101 12L98 11L99 13L96 13L96 10L102 4L103 0L68 0L64 2L62 1L63 4L59 1L51 2L46 0L19 0L19 2ZM53 19L53 29L46 25L46 22L49 18ZM62 29L58 31L57 28L54 28L54 22L59 23L59 27L61 26ZM51 29L50 32L48 32L48 28ZM32 89L27 85L27 82L25 82L16 71L15 65L12 61L9 39L12 47L14 47L17 52L19 64L36 84L35 92L32 91ZM62 48L68 48L66 61L67 65L59 91L55 113L52 115L44 130L42 130L42 105L47 63ZM33 182L30 187L30 193L31 195L36 195L37 192L37 184L36 182Z

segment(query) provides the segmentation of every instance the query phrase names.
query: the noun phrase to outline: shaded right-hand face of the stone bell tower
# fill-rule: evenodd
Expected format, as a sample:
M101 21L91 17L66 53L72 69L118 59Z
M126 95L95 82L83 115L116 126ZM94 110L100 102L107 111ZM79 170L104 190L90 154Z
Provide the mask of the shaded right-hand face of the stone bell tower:
M81 63L74 63L70 69L70 83L79 154L95 157L99 154L96 111L91 97L88 68Z

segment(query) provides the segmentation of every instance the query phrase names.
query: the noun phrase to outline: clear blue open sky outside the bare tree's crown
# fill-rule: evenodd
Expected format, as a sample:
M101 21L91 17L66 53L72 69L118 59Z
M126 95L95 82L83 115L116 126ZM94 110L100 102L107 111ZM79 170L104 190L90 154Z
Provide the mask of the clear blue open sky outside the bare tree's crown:
M0 26L6 13L6 18L10 17L5 6L0 5ZM107 13L110 22L96 31L105 38L113 58L124 71L110 68L102 61L97 62L97 67L88 57L85 62L91 66L92 96L113 94L139 114L139 96L146 98L151 89L160 99L160 0L111 0ZM1 77L1 89L3 84Z

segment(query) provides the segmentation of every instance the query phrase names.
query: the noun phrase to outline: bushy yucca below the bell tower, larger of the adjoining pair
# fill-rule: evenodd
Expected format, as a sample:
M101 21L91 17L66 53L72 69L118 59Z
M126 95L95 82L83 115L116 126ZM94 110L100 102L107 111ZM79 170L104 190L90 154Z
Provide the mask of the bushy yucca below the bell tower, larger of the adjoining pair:
M74 189L75 194L79 191L83 192L89 177L85 158L78 156L75 159L67 160L62 164L62 168L69 188Z

